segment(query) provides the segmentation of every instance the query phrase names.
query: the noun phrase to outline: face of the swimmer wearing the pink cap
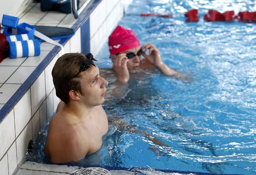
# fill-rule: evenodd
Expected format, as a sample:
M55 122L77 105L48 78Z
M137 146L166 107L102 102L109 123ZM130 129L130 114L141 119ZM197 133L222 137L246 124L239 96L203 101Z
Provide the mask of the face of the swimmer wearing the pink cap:
M140 58L141 56L138 56L138 51L140 51L140 46L134 47L132 49L128 49L126 51L120 52L120 53L134 53L133 58L128 59L127 68L130 73L136 73L140 67Z

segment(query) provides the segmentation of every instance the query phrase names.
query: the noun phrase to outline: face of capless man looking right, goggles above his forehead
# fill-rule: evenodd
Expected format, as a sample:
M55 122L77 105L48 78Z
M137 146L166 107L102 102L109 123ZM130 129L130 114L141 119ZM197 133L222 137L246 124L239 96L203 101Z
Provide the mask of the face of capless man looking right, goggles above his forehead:
M108 85L108 82L100 77L98 67L93 67L89 73L84 71L81 79L81 90L84 95L81 94L80 100L92 107L102 104L104 102L106 85Z

